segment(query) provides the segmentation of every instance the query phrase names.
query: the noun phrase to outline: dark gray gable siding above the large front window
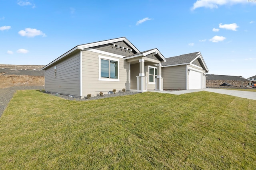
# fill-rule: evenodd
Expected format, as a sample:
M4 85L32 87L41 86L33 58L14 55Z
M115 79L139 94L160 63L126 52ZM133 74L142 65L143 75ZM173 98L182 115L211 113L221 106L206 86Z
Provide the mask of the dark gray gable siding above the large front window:
M119 45L120 47L124 47L124 48L128 48L131 49L131 47L129 47L128 45L126 45L126 43L124 43L123 41L114 43L115 45ZM96 46L96 47L91 47L92 49L97 49L100 51L105 51L108 53L114 53L117 55L122 55L122 56L128 56L128 55L132 55L135 54L136 51L125 51L123 49L117 48L117 47L112 47L112 44L106 44L106 45L100 45L100 46Z

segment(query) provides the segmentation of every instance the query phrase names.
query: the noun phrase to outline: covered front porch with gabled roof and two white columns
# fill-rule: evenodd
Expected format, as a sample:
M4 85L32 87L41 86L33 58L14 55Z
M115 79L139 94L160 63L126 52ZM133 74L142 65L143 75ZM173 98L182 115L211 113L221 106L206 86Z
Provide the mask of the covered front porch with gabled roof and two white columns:
M124 60L130 63L130 90L163 90L161 63L166 62L166 59L158 49L136 53L125 57Z

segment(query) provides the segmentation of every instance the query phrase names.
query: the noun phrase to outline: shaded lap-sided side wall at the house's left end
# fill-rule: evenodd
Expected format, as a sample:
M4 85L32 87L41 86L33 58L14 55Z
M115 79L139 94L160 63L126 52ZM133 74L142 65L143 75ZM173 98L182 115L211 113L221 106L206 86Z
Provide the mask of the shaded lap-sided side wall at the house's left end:
M68 55L45 70L45 90L80 96L80 54ZM56 77L54 73L56 66Z

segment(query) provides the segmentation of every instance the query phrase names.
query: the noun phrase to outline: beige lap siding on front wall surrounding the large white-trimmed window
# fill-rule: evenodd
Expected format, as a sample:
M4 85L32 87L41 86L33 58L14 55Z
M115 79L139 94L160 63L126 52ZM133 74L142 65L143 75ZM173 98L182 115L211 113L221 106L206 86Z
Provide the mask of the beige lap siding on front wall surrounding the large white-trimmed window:
M119 59L119 80L116 81L100 81L99 80L99 55ZM122 58L113 57L110 55L103 55L92 51L82 52L82 88L83 96L92 94L96 96L99 92L107 93L116 89L117 92L126 88L130 88L129 83L129 63Z

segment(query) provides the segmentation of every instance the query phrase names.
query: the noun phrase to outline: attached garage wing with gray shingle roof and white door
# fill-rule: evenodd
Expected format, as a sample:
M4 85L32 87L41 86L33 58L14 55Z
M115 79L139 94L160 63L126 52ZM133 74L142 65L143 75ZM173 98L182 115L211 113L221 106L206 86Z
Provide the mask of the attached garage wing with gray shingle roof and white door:
M200 52L166 59L162 63L164 89L206 88L206 72L209 72Z

